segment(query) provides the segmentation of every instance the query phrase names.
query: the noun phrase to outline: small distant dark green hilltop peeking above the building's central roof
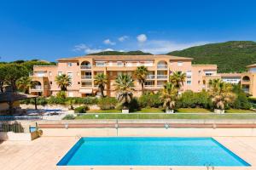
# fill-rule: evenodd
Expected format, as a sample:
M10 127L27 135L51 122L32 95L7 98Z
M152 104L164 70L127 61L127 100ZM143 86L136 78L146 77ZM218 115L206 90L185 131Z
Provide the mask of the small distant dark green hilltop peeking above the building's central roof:
M102 51L95 54L88 55L152 55L150 53L144 53L143 51L128 51L128 52L119 52L119 51Z

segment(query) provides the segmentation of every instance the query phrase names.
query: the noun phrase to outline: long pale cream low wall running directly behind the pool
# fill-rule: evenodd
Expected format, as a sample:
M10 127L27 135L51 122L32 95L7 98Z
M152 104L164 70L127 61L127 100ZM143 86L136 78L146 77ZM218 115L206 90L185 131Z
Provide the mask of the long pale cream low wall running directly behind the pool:
M43 136L170 136L221 137L256 136L255 128L42 128Z

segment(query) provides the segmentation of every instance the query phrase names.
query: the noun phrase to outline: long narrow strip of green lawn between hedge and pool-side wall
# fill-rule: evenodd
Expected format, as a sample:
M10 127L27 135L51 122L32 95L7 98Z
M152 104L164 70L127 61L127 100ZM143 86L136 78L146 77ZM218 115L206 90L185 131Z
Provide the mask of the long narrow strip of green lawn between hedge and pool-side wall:
M76 119L256 119L256 114L85 114Z

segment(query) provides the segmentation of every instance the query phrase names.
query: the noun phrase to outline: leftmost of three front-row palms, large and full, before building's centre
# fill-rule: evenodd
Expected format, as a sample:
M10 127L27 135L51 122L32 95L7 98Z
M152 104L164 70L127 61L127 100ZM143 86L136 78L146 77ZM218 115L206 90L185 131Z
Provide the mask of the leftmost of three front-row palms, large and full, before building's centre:
M134 80L130 75L121 74L116 78L114 86L119 102L122 103L125 109L128 108L134 92Z

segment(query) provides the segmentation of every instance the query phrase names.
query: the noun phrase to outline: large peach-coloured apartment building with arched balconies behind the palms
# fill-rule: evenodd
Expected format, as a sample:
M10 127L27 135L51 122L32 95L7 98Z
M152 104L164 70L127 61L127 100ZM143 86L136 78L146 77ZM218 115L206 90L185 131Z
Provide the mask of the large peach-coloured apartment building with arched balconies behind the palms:
M67 96L84 97L96 95L98 88L94 77L98 73L108 76L105 94L115 96L114 83L119 74L133 75L137 66L148 68L145 89L158 92L169 81L173 71L186 73L186 81L180 90L195 92L207 89L209 79L218 77L217 65L192 65L192 58L170 55L85 55L73 58L57 59L58 65L35 65L32 80L36 83L30 92L44 96L55 95L61 89L55 82L55 77L67 74L72 79L72 85L67 88ZM139 96L141 85L135 79L135 95Z

